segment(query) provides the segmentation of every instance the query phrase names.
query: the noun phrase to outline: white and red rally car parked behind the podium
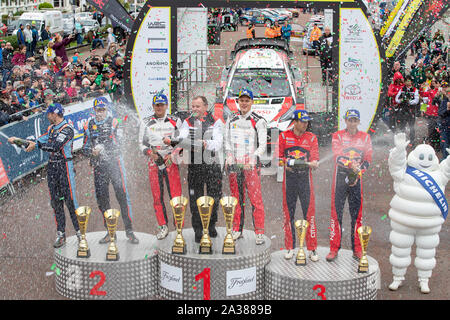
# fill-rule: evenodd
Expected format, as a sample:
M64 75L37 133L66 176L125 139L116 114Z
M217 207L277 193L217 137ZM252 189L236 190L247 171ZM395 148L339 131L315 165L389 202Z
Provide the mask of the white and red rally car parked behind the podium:
M224 121L239 105L239 91L253 92L252 110L268 124L268 156L274 151L272 141L291 124L294 110L304 109L300 71L290 63L292 52L284 40L256 38L239 40L216 88L214 115Z

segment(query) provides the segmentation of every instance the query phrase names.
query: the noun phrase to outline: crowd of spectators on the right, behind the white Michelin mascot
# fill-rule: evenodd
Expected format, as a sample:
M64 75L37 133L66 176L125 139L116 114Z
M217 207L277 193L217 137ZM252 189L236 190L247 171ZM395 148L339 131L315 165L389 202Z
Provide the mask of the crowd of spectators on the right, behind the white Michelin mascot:
M442 156L450 146L450 87L448 42L440 30L420 36L411 48L410 68L395 61L391 70L385 120L393 131L409 127L411 145L432 145ZM424 141L415 137L415 120L423 117L427 126Z

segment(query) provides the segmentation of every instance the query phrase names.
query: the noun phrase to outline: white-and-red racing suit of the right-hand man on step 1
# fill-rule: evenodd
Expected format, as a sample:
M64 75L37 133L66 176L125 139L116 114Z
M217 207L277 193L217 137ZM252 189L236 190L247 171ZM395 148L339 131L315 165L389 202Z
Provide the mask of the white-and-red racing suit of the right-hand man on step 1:
M238 199L234 214L233 230L244 227L245 190L253 208L253 224L256 234L264 234L264 204L261 194L259 157L267 147L267 123L254 112L232 115L225 124L225 152L235 164L253 164L251 169L229 169L231 195ZM256 165L255 165L256 164ZM229 166L232 167L232 166Z

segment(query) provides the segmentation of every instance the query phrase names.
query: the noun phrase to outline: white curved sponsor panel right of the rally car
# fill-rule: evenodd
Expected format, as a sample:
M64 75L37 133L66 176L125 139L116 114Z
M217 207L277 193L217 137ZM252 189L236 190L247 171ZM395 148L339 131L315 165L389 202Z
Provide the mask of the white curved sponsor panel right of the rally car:
M338 128L345 127L345 112L357 109L361 114L359 129L367 131L377 112L382 89L378 43L359 8L341 8L339 25Z

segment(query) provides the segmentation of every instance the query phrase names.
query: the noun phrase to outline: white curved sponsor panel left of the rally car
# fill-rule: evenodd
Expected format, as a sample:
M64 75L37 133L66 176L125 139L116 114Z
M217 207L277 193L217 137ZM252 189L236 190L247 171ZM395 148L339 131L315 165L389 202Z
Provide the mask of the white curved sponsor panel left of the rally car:
M170 7L151 7L137 31L130 63L131 94L141 119L153 114L158 92L167 96L170 108L170 54Z

